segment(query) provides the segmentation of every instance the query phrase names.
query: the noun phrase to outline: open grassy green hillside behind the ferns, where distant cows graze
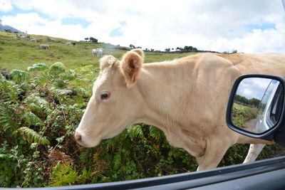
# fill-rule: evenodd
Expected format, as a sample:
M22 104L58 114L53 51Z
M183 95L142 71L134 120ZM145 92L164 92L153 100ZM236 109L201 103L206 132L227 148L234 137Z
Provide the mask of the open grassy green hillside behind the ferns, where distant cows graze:
M0 69L6 68L25 70L34 63L52 63L62 62L67 68L80 68L84 65L98 66L99 58L91 55L93 48L104 48L103 55L113 55L121 58L126 51L115 49L116 46L105 43L80 43L76 41L76 46L66 46L66 42L70 41L63 38L53 38L54 42L48 42L48 36L31 35L38 40L37 43L30 41L22 41L15 38L15 33L0 32ZM40 44L48 44L50 49L40 50ZM172 60L181 58L193 53L145 53L145 63Z

